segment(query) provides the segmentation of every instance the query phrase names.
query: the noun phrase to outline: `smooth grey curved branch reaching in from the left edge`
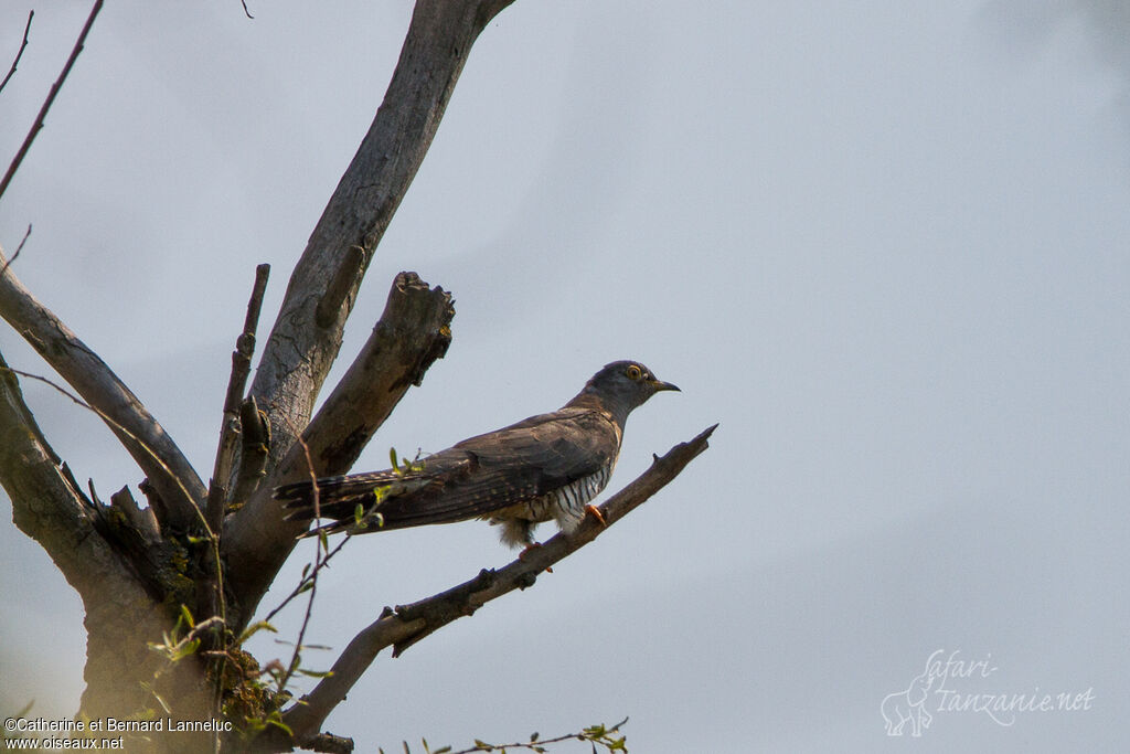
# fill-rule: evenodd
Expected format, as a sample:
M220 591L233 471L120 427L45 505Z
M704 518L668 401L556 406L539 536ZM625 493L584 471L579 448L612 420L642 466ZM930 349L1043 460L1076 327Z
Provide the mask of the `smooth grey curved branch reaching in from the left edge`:
M0 317L104 415L163 499L168 522L180 529L198 523L205 487L180 448L106 363L36 301L10 268L0 278Z

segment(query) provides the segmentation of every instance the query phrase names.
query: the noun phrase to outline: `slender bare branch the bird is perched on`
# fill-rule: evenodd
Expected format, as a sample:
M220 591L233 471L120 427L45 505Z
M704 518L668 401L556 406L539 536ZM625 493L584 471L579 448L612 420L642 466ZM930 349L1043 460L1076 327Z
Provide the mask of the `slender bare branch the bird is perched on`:
M709 447L715 424L698 436L679 443L628 486L600 506L607 526L614 525L673 479ZM392 647L392 656L460 617L472 615L488 601L515 589L533 584L537 575L576 552L603 532L606 526L593 517L572 535L558 534L545 544L497 571L484 570L470 581L411 605L385 608L381 617L358 633L333 664L331 674L282 714L282 720L303 742L318 733L327 716L353 688L377 653Z

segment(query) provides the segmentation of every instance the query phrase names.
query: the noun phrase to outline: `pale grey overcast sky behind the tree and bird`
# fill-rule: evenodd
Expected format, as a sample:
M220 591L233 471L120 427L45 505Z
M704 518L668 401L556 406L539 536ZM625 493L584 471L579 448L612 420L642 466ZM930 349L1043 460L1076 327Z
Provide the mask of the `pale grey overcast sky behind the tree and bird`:
M410 3L250 0L254 20L237 0L191 5L106 3L0 203L0 245L34 225L17 274L207 476L254 266L273 268L266 333L383 96ZM0 7L5 69L29 7ZM1121 7L506 9L471 52L346 333L334 376L397 271L454 293L447 356L358 469L382 467L390 445L440 450L556 408L616 358L683 392L633 415L612 488L721 426L673 484L536 588L379 658L327 727L389 751L631 716L629 747L647 754L902 751L910 726L886 735L880 704L944 650L992 671L935 674L916 749L1127 749ZM35 7L0 93L0 154L88 9ZM49 371L2 327L0 350ZM96 419L24 389L80 479L103 496L139 480ZM311 556L296 551L277 591ZM307 664L328 667L384 605L510 557L477 522L355 540L320 581L307 635L333 649ZM0 712L35 699L72 714L81 604L8 523L0 604ZM299 618L279 619L284 636ZM264 662L288 651L255 645ZM939 710L1088 691L1090 709L1010 725Z

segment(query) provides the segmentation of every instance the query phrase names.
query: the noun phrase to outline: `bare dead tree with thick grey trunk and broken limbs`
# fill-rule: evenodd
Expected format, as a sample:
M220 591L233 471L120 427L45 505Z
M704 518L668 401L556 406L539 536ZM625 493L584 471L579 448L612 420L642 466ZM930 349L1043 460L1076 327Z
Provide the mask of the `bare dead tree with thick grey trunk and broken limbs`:
M290 275L249 388L268 275L266 265L257 270L207 483L156 417L19 283L16 268L0 253L0 315L102 417L145 475L139 489L146 508L128 488L108 502L97 497L93 485L86 491L51 449L23 399L20 379L32 375L0 356L0 482L12 500L12 519L50 554L86 609L89 639L79 716L167 713L226 719L236 728L226 735L130 736L129 747L347 747L347 740L321 734L321 726L377 652L392 647L395 656L487 601L531 586L538 573L602 531L586 521L576 534L558 535L503 569L374 615L341 652L332 675L303 700L289 700L263 684L257 662L241 649L260 600L305 528L284 520L272 489L347 471L451 341L451 295L415 274L400 274L368 341L313 415L358 287L435 135L471 45L510 2L417 1L384 101ZM88 29L89 23L84 36ZM611 496L601 509L607 522L615 523L672 479L705 450L712 430L657 457L647 471ZM249 718L279 725L255 735L243 725Z

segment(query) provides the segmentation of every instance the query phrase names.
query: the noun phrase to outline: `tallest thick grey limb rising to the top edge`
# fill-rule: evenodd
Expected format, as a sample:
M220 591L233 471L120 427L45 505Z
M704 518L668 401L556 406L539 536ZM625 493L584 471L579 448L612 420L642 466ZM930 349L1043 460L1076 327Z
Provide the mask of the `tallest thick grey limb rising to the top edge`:
M301 431L310 419L360 280L432 144L472 43L511 1L417 1L384 102L294 269L255 373L251 393L276 434L272 466L293 444L288 427ZM355 248L364 253L350 252ZM342 268L355 271L342 278Z

